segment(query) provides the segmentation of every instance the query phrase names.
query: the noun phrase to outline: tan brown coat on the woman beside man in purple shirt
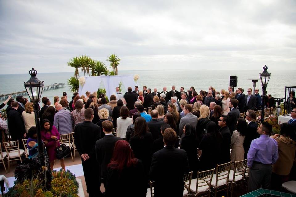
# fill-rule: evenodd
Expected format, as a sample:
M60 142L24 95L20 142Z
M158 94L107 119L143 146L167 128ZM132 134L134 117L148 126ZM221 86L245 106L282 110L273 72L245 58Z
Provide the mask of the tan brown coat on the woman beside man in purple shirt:
M273 164L272 171L278 175L289 175L293 166L296 142L284 135L275 140L278 142L278 160Z

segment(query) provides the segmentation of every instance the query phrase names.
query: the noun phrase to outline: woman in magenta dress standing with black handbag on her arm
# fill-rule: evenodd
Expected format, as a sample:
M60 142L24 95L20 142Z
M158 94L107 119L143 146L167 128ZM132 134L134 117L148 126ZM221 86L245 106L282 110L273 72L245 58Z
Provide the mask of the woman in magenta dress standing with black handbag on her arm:
M43 119L41 123L41 139L43 140L44 146L46 147L50 169L52 171L56 159L55 148L60 146L60 133L48 119ZM62 169L65 170L64 159L60 159L60 164Z

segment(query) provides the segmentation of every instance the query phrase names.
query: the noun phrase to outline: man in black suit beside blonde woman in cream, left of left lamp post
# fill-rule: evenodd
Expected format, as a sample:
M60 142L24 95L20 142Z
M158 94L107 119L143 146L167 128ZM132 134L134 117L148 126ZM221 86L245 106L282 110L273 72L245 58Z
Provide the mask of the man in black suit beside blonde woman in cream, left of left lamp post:
M7 113L9 134L12 141L19 140L19 147L20 149L23 149L22 139L24 139L27 134L22 116L17 111L19 103L14 101L11 103L11 107L11 110Z

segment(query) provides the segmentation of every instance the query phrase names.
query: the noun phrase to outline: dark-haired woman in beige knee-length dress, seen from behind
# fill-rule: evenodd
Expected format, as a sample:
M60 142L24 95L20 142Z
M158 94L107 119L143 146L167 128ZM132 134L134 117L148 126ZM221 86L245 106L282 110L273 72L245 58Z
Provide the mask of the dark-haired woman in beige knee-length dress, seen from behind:
M232 162L244 160L244 140L247 131L247 122L245 119L237 119L236 130L233 131L231 136L232 150L230 155L230 160Z

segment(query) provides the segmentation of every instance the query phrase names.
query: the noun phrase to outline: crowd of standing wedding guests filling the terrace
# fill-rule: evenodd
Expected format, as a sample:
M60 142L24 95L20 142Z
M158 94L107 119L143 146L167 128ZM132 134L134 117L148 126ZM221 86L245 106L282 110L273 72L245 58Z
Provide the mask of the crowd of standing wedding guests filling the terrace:
M60 135L74 131L90 196L102 195L101 183L105 196L146 196L150 180L155 181L155 197L182 196L183 175L189 171L195 177L197 171L244 159L249 191L271 185L280 190L283 182L295 179L290 172L295 168L296 108L292 119L281 125L281 133L270 136L272 126L266 122L258 126L255 111L261 105L275 107L274 99L262 103L258 89L252 91L248 88L244 94L242 88L234 92L228 87L219 92L210 86L198 93L193 86L187 91L172 86L170 91L163 87L162 92L157 88L152 92L135 86L123 94L117 87L108 99L96 92L81 96L76 92L68 102L64 92L54 98L54 107L43 97L41 136L50 167ZM5 102L11 139L21 142L29 137L29 157L38 156L33 151L38 146L33 105L23 96ZM240 118L243 112L245 119ZM63 159L60 163L65 168Z

